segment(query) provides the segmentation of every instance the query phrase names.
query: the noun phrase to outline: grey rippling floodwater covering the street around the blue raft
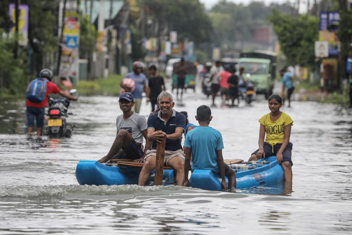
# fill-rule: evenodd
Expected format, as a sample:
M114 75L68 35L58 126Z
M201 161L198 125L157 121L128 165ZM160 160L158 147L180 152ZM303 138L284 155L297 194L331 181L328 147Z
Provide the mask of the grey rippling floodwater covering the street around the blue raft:
M210 99L188 91L185 106L177 103L195 123L196 107ZM351 110L292 106L282 110L294 120L293 184L218 192L78 185L78 161L100 159L111 147L117 97L71 103L68 122L76 127L61 140L27 137L24 101L0 101L0 234L351 234ZM266 101L212 111L224 158L247 160L258 146L258 119L269 112ZM149 112L144 103L141 113Z

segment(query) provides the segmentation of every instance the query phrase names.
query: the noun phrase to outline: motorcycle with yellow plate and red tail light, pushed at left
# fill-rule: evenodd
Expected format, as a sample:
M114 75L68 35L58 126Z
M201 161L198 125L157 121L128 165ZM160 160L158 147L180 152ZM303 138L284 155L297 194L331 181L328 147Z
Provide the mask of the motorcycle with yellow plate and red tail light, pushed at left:
M71 89L70 93L73 94L77 90ZM67 124L66 118L73 113L68 112L70 101L66 98L49 99L48 110L48 135L50 138L71 137L73 125Z

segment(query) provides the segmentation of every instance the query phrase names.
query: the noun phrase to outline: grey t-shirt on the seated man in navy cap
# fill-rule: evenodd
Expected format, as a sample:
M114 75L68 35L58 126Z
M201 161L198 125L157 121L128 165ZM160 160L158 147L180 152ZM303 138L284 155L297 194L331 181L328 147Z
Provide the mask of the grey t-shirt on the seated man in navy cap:
M132 138L143 144L142 131L147 129L147 120L144 116L133 112L130 118L124 119L124 115L120 115L116 118L116 129L117 131L125 129L128 133L132 135Z

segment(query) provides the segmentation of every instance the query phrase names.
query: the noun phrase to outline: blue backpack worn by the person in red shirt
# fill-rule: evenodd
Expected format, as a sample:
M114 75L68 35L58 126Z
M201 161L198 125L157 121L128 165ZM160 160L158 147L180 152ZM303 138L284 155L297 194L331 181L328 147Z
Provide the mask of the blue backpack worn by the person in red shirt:
M32 80L26 91L26 98L34 103L41 103L46 96L46 83L48 80L43 78L36 78Z

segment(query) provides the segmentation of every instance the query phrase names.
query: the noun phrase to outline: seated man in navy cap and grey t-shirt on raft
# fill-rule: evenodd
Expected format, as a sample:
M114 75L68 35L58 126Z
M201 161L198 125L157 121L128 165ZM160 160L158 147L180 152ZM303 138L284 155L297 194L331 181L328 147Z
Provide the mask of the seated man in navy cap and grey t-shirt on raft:
M151 142L147 140L147 121L144 116L132 111L134 97L125 92L119 98L120 109L123 114L116 118L117 134L110 151L98 162L104 163L110 159L140 159L145 156L145 149L150 149Z

